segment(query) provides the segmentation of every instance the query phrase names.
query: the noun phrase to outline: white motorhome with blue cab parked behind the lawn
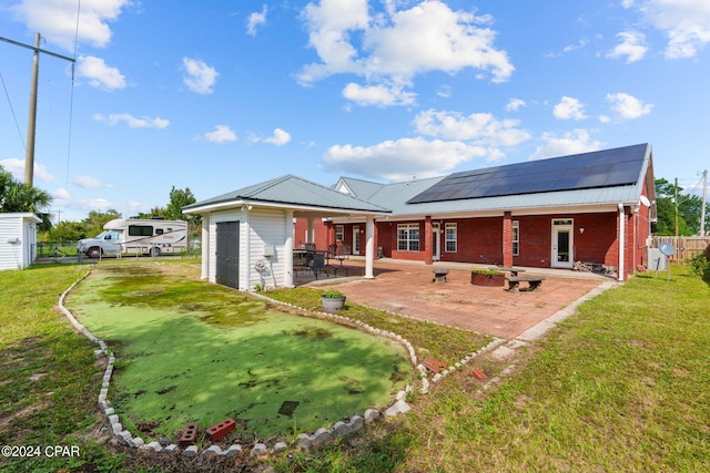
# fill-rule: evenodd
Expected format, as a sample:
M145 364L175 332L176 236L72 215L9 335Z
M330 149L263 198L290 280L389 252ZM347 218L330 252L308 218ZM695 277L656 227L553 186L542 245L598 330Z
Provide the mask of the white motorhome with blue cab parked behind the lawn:
M79 240L79 251L90 258L101 255L173 254L187 249L187 223L160 218L116 218L95 238Z

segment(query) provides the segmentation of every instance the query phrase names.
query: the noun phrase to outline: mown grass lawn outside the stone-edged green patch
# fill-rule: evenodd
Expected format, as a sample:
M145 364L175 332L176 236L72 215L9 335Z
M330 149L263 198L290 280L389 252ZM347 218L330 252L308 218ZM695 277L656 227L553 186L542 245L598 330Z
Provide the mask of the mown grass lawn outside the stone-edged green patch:
M53 308L84 271L0 273L0 444L81 448L80 457L1 457L0 470L248 471L247 459L156 464L103 445L95 408L103 366ZM639 275L584 304L487 391L469 369L495 376L505 366L483 358L416 395L406 415L270 462L278 472L710 471L710 288L683 266L665 276ZM305 290L282 296L317 300ZM356 305L346 313L398 326L419 353L456 358L444 351L448 337L452 347L468 343Z

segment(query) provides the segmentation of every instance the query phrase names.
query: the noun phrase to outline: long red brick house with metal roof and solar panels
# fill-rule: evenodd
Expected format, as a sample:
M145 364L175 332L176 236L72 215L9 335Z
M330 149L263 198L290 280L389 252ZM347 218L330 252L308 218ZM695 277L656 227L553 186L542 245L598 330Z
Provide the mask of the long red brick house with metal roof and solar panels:
M378 256L531 268L604 265L625 280L645 265L656 219L649 144L335 191L390 210L374 222ZM294 246L341 241L364 255L366 220L297 218Z

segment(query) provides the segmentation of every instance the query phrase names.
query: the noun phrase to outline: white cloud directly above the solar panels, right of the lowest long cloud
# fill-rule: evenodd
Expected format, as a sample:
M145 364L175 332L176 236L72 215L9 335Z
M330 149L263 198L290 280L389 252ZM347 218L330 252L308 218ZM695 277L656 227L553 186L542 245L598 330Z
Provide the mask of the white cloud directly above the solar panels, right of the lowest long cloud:
M490 113L427 110L414 119L417 133L446 140L460 140L481 146L515 146L530 138L518 120L497 120Z

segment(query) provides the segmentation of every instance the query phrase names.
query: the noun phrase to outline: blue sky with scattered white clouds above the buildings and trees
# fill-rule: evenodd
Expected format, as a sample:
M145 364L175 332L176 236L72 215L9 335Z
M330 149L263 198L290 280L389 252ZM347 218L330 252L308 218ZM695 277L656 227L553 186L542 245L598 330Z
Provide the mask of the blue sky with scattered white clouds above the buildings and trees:
M77 58L40 59L34 185L62 220L638 143L688 191L710 167L707 0L0 0L0 37L34 32ZM20 179L31 68L0 42Z

